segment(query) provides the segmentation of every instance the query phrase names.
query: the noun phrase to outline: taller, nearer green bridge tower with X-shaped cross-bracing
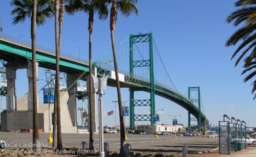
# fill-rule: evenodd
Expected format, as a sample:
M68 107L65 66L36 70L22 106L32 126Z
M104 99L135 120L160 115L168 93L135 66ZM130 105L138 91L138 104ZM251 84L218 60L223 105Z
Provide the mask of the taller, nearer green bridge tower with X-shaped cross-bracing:
M148 42L149 43L149 60L134 60L134 44ZM150 67L150 99L134 100L135 91L142 91L140 88L130 88L130 128L134 128L135 121L150 121L151 125L155 124L153 119L155 114L155 85L154 85L154 63L153 63L153 38L152 33L139 34L130 36L130 73L134 74L134 68ZM145 91L145 90L143 90ZM136 115L135 107L150 106L150 115Z

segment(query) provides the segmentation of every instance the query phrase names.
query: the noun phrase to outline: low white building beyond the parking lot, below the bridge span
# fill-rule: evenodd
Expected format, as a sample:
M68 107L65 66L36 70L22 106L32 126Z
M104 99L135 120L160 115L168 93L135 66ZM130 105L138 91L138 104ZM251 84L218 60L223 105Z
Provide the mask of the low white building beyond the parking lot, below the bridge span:
M168 133L175 133L178 130L182 130L183 125L157 125L157 132L168 132ZM138 125L138 130L140 132L144 131L146 134L155 134L156 133L156 125Z

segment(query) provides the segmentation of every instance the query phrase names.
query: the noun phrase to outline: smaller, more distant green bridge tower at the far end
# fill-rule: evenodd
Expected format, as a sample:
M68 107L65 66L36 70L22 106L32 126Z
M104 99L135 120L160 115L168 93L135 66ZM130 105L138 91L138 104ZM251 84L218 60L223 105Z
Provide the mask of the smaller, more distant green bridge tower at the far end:
M191 98L191 91L195 91L198 93L198 98L194 99ZM200 95L200 87L188 87L188 98L194 102L194 103L198 103L198 109L199 109L199 114L197 118L191 118L190 117L190 111L188 111L188 127L190 127L191 125L191 121L197 121L198 123L198 130L201 129L201 125L202 125L202 118L201 118L201 95Z

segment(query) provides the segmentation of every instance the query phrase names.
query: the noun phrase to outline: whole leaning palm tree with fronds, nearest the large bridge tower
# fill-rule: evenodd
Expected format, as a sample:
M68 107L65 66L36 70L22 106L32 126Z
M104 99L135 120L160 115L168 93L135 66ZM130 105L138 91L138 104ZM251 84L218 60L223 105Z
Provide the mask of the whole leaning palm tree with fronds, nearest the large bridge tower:
M111 31L111 43L112 43L114 66L115 66L115 73L116 73L116 88L117 88L117 97L118 97L120 129L121 129L120 155L125 155L125 151L124 151L125 131L124 131L124 122L123 122L122 98L121 98L120 82L119 82L119 76L118 76L118 65L117 65L117 57L116 57L116 49L115 49L114 31L115 31L118 10L122 13L122 15L128 17L133 12L135 12L137 15L138 9L136 7L137 0L109 0L109 2L112 4L111 10L110 10L111 11L110 31Z

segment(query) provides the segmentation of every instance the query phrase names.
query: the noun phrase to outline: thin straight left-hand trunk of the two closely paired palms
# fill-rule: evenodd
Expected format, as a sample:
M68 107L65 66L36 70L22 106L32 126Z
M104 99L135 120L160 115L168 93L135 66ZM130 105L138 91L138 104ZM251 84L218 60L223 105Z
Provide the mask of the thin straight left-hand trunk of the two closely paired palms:
M54 4L54 26L55 26L55 54L57 57L58 54L58 7L59 7L59 0L55 0ZM57 59L56 59L57 61ZM57 62L56 62L57 64ZM56 65L57 66L57 65ZM57 69L57 67L56 67ZM53 121L53 147L57 147L57 87L56 87L56 82L57 82L57 71L55 72L55 91L54 91L54 121Z

